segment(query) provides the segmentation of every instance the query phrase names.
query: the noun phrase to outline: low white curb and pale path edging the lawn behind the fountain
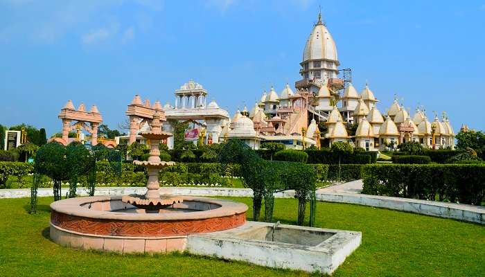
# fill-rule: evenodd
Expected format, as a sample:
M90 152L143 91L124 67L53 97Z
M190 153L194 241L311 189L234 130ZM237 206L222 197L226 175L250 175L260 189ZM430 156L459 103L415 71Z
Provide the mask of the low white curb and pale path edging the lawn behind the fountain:
M62 188L61 195L66 195L69 188ZM96 188L96 195L127 195L144 194L144 187L113 187ZM438 201L427 201L400 197L388 197L379 195L364 195L362 191L362 180L351 181L343 184L335 184L327 188L317 190L317 200L324 202L337 202L347 204L359 204L378 208L389 208L396 211L432 215L435 217L452 218L466 222L474 222L485 225L485 207L465 204L454 204ZM79 196L87 196L86 188L78 188ZM175 195L193 196L226 196L226 197L252 197L252 190L249 188L189 188L173 187ZM39 188L39 197L52 196L52 188ZM29 188L21 189L0 189L1 198L30 197ZM293 198L293 190L285 190L276 193L277 198Z

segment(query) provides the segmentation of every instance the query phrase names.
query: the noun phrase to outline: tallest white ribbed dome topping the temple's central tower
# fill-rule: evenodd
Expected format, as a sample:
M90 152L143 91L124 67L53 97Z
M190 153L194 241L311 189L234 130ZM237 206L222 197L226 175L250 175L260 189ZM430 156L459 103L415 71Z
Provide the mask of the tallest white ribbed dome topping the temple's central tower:
M329 60L335 62L337 66L340 65L335 41L326 26L321 22L321 15L319 15L319 21L313 27L312 33L310 33L303 49L302 62L308 60Z

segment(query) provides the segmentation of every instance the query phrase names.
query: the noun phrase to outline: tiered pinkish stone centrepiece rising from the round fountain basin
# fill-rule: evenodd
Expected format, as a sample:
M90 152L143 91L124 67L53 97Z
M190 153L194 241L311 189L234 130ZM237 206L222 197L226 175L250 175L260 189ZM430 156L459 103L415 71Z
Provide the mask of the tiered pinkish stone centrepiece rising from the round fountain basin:
M183 202L182 197L171 195L172 190L170 188L160 188L159 185L158 176L161 168L175 165L173 161L160 160L160 141L172 136L168 132L161 131L160 118L161 114L159 114L159 111L155 111L150 124L150 131L140 133L141 136L150 141L150 157L148 161L133 161L136 165L148 168L147 191L145 195L125 195L121 200L137 208L143 208L147 213L158 213L161 208Z

